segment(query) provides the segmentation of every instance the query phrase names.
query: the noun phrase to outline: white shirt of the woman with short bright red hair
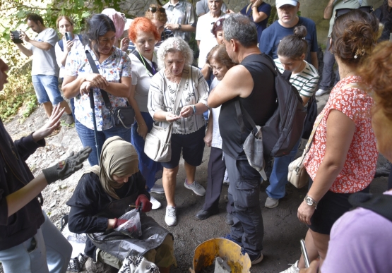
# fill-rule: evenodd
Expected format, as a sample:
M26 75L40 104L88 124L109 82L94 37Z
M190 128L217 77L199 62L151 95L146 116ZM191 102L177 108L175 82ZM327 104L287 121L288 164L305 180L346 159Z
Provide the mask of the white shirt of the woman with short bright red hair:
M157 49L154 49L153 62L157 63L156 57ZM153 75L148 72L144 64L135 56L135 54L130 53L129 58L131 59L132 67L132 85L136 85L135 89L135 99L138 103L139 110L141 112L147 112L147 102L148 102L148 92L150 90L151 78ZM153 63L148 59L144 59L151 67ZM157 68L158 70L158 68Z

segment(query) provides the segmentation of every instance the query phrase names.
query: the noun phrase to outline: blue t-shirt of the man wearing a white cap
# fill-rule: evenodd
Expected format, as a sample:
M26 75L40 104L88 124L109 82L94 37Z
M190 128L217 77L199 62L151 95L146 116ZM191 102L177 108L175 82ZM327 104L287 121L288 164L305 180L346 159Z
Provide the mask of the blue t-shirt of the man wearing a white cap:
M263 31L259 44L260 51L271 56L273 59L277 59L278 44L280 40L287 35L292 35L294 28L298 25L304 25L307 28L307 37L305 37L305 40L308 42L308 52L305 60L308 63L311 63L310 52L317 52L319 50L319 45L317 44L316 24L309 18L299 16L297 25L292 28L285 28L276 20Z

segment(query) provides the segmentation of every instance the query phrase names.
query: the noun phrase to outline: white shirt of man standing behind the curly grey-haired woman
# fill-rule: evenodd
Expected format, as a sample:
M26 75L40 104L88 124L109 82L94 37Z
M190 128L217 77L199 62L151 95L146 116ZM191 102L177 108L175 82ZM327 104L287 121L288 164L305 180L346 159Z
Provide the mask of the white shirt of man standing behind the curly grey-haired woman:
M203 16L200 16L197 21L196 27L196 40L200 41L198 49L200 53L198 54L198 67L203 68L206 64L206 58L208 52L218 44L216 42L215 36L211 32L213 29L213 24L219 20L220 18L225 18L227 14L220 13L219 18L213 18L210 13L206 13Z

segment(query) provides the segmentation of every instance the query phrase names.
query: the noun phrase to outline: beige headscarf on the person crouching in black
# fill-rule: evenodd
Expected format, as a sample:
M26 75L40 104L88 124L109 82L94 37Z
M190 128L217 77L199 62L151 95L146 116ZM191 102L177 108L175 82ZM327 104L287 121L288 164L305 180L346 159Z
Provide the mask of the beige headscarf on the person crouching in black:
M93 172L100 176L100 182L105 192L112 198L120 199L115 188L121 188L112 179L113 174L117 176L129 176L138 172L138 154L131 143L126 142L119 136L108 138L102 147L100 166L92 166L85 173Z

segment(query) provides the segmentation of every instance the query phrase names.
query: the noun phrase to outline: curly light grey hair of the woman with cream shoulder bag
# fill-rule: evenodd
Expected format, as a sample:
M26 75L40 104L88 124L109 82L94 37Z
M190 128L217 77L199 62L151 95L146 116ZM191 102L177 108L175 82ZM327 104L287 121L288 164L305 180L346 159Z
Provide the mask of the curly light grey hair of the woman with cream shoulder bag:
M191 65L194 61L194 51L189 47L189 44L181 38L171 37L162 44L158 49L158 68L165 68L165 57L169 52L180 51L185 58L185 64Z

